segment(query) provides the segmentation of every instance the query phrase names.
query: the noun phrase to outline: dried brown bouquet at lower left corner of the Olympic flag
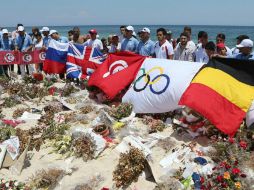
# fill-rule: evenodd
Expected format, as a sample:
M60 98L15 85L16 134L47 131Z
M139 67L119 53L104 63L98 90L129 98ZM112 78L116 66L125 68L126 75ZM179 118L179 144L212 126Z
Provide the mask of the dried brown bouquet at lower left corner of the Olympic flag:
M128 103L121 103L117 107L113 107L110 111L109 114L110 116L120 120L124 117L130 116L132 112L132 105Z

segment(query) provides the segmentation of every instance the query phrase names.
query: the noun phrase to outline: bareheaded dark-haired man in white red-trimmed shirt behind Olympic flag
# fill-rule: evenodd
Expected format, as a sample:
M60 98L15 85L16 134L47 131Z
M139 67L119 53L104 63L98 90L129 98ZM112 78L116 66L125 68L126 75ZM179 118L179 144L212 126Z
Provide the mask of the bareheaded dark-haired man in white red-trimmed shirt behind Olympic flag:
M173 59L173 46L166 40L167 31L164 28L157 30L158 41L155 43L154 52L156 58Z

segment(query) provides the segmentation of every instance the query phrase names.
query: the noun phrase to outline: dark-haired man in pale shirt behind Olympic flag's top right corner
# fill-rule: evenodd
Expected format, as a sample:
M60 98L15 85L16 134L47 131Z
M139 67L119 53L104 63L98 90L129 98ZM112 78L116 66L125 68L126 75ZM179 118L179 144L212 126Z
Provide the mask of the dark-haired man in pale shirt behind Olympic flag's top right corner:
M208 34L204 31L200 31L198 34L199 44L195 51L195 61L201 63L208 63L209 57L206 54L205 46L208 43Z

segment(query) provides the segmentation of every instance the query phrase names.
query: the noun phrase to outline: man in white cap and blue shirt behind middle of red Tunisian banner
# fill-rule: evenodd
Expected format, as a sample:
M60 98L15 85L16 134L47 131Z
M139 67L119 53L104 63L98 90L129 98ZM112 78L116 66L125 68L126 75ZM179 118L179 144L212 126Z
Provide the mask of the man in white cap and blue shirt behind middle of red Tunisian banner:
M24 26L18 27L18 33L19 35L15 39L15 50L21 52L28 52L32 50L32 38L25 32ZM33 65L29 64L27 66L27 74L32 74L33 71ZM25 76L25 65L20 65L20 72L18 71L18 74L20 73L22 77Z

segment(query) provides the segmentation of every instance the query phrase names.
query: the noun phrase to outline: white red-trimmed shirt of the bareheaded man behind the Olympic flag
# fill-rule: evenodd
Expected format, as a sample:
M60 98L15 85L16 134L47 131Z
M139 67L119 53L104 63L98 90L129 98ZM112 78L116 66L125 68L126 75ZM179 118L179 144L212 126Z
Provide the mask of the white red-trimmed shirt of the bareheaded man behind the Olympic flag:
M161 58L161 59L168 59L169 55L174 54L173 46L167 40L161 46L159 42L157 41L154 46L154 52L155 52L156 58Z

